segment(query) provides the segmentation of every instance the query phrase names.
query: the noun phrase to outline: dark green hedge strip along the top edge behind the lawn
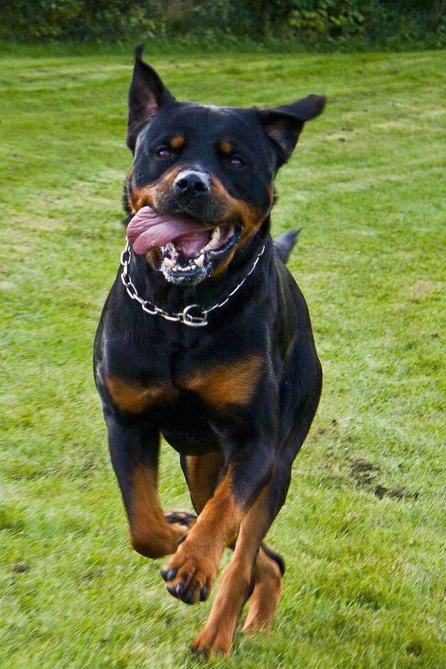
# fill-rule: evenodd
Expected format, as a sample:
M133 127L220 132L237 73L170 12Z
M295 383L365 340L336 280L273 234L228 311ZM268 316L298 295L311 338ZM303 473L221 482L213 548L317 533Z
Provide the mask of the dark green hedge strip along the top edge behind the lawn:
M257 49L446 45L445 0L6 0L0 40Z

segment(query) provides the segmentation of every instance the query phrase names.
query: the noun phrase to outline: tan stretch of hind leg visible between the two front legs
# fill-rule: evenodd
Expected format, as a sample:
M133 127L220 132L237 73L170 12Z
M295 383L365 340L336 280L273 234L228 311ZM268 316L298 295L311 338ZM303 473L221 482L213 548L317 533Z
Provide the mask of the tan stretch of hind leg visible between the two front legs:
M222 466L223 456L218 452L186 456L187 486L197 514L201 514L214 494Z

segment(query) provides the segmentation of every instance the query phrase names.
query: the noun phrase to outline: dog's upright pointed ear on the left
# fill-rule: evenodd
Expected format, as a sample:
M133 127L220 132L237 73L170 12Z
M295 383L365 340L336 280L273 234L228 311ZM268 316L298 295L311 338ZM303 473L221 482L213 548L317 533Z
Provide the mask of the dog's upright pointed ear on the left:
M158 109L175 98L151 66L141 59L142 45L134 52L132 83L128 93L127 146L134 152L139 131L151 120Z

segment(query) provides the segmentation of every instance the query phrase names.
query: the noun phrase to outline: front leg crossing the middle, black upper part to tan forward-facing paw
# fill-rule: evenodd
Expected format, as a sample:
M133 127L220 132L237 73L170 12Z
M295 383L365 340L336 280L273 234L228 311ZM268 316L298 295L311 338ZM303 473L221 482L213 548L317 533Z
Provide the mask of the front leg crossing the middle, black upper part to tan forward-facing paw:
M162 569L167 590L174 596L195 603L208 598L213 587L224 548L233 542L240 523L270 476L274 445L243 427L240 436L231 435L227 461L220 484L208 500L197 523L176 553ZM246 594L246 593L245 593Z

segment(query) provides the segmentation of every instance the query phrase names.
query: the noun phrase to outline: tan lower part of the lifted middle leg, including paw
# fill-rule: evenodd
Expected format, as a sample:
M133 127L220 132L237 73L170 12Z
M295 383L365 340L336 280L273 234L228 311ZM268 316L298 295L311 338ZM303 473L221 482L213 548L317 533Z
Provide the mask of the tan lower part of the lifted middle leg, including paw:
M236 536L242 517L243 512L233 498L229 471L185 541L162 569L164 574L174 572L167 582L172 594L175 591L176 596L187 603L208 597L224 548Z

